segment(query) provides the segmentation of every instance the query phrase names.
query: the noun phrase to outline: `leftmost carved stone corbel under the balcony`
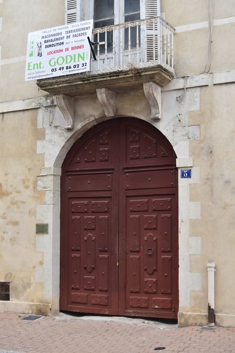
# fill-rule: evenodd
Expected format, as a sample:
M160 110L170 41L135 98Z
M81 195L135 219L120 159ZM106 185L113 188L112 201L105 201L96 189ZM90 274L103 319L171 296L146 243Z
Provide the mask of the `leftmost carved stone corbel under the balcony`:
M56 96L56 102L65 120L64 129L73 129L74 98L65 96L64 94L58 94Z

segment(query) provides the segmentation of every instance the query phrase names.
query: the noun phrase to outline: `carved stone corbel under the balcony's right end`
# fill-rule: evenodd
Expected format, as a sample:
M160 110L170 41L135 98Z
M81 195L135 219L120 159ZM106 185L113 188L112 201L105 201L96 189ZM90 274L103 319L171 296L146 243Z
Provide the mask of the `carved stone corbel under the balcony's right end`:
M162 91L154 82L143 83L144 94L150 104L151 119L161 119Z

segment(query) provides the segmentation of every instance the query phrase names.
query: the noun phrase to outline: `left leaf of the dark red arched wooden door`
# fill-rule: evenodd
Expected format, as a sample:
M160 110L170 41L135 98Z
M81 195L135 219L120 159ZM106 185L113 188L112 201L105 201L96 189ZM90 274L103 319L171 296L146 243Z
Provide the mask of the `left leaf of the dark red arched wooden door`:
M118 314L118 140L89 131L61 178L60 309Z

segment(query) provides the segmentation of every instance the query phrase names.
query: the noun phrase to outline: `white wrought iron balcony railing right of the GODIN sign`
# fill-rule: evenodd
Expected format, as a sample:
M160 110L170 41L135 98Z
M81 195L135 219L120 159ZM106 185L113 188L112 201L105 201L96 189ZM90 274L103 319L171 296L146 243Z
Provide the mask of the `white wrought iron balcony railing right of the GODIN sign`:
M91 74L160 65L174 76L174 28L161 17L96 28Z

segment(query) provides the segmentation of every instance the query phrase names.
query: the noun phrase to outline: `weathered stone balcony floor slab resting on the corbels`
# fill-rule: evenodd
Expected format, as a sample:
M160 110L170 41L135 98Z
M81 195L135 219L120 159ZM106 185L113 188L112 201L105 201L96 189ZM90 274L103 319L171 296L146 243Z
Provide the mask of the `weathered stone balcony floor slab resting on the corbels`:
M37 81L40 89L50 94L66 94L82 96L95 94L97 88L109 88L114 92L129 91L140 87L144 82L152 81L159 86L171 82L174 72L163 65L140 67L127 66L113 68L111 71L95 71L88 74L74 74L67 76L41 79Z

